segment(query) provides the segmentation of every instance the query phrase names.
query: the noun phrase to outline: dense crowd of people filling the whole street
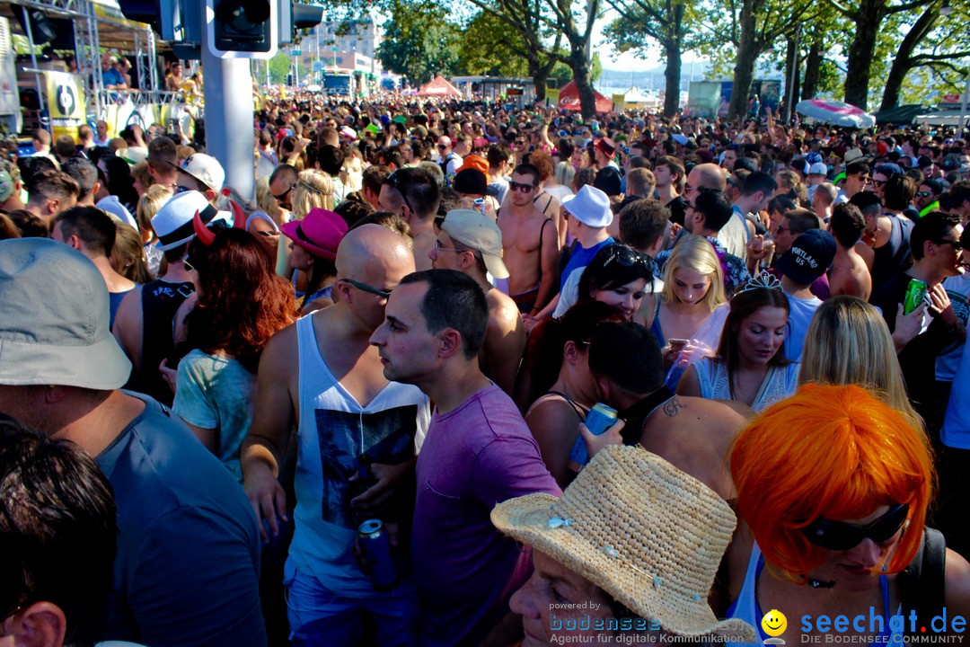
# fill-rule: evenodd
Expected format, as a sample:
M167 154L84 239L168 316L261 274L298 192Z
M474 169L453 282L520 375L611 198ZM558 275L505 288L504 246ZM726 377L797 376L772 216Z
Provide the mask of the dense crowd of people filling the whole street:
M970 615L964 133L264 96L246 196L95 130L0 163L14 644Z

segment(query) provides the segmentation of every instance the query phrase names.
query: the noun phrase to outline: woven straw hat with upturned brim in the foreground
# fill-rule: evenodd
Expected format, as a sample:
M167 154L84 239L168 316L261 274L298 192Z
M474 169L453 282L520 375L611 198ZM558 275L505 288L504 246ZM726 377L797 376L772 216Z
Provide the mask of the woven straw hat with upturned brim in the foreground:
M734 513L703 483L642 447L606 447L562 499L503 501L492 523L666 631L736 642L758 637L742 620L718 621L707 604Z

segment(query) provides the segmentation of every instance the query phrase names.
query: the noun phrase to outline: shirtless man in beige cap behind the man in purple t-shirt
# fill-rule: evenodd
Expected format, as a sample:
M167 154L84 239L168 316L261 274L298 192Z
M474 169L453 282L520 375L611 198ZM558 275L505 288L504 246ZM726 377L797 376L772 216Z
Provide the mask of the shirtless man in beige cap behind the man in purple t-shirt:
M508 276L501 262L501 230L480 211L448 211L441 222L431 261L436 270L457 270L471 276L485 292L488 328L478 353L478 366L511 396L526 348L526 327L515 302L493 287L485 275L488 271L496 278Z

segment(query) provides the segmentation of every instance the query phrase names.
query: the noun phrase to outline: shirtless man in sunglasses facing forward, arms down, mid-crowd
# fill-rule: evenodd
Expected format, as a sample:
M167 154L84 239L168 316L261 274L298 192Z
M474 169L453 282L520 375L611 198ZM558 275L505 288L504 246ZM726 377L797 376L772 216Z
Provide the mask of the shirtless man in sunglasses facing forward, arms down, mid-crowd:
M508 183L509 198L499 211L507 294L523 314L535 315L556 294L559 236L555 221L533 205L539 172L520 164ZM415 249L416 251L416 249Z

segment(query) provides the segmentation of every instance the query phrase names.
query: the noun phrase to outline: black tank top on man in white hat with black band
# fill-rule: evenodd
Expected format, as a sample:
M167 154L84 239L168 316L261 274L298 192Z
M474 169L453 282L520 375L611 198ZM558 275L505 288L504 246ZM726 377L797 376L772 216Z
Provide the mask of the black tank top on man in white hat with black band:
M172 389L162 378L158 365L165 358L172 364L175 340L172 325L178 307L195 292L192 283L173 283L162 278L142 287L142 366L132 372L126 388L151 396L162 404L172 405ZM173 365L172 368L175 368Z

